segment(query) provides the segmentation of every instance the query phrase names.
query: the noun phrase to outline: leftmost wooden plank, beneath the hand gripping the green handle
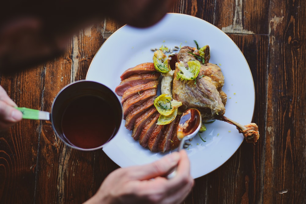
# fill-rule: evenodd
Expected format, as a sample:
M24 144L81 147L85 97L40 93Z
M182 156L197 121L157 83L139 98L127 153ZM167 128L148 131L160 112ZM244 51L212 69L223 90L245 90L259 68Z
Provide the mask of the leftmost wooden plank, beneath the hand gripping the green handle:
M42 73L38 66L2 76L1 86L18 106L41 109ZM34 200L40 129L40 121L23 120L0 133L0 203Z

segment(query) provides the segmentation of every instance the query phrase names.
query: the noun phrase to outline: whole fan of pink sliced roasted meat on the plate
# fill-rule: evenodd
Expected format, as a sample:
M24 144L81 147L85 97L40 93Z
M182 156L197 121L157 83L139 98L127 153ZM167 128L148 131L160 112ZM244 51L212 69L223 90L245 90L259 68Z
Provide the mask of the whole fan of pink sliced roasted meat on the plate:
M127 69L120 77L115 92L122 96L125 127L132 137L151 151L165 152L177 148L176 136L180 117L167 125L158 125L160 113L154 106L160 73L153 63L143 63Z

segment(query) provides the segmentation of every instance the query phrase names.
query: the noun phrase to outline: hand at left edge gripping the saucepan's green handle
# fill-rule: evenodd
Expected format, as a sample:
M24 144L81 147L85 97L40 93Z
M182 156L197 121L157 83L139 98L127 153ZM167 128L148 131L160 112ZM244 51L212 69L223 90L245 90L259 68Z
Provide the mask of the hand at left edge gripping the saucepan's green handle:
M22 119L21 111L15 109L16 103L7 95L0 86L0 131L6 130Z

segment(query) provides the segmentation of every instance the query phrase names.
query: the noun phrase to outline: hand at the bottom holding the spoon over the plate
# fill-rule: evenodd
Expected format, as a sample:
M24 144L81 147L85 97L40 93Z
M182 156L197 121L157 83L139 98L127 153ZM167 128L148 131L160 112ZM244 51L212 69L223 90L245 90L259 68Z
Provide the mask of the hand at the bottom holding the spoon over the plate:
M177 174L167 176L177 166ZM120 168L110 173L89 203L178 204L189 194L194 180L185 150L173 152L151 164Z

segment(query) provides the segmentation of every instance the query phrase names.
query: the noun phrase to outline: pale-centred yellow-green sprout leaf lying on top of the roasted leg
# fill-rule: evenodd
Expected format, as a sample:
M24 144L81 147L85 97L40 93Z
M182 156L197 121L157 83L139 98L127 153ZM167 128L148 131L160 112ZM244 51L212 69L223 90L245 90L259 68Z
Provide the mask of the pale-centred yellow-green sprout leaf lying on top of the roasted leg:
M179 61L175 65L178 69L180 69L179 72L177 72L177 80L194 80L199 72L201 64L199 61L188 61L187 62L188 67L186 68L184 65L184 62Z

